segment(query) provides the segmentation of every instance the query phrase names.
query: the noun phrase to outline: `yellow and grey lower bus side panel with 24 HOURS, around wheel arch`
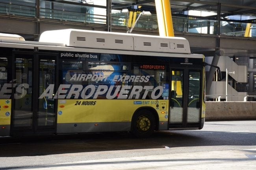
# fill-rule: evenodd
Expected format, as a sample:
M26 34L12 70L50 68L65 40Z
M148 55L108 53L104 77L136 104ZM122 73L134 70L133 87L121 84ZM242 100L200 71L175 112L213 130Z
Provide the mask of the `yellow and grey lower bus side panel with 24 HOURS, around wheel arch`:
M57 133L130 131L140 107L154 108L160 129L167 130L167 100L59 99Z

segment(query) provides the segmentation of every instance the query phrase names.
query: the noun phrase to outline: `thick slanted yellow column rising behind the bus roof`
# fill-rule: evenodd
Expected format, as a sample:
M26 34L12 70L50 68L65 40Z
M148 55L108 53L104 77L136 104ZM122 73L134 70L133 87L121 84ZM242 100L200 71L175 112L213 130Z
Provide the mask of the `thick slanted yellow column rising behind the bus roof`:
M171 5L169 0L155 0L160 36L174 37Z

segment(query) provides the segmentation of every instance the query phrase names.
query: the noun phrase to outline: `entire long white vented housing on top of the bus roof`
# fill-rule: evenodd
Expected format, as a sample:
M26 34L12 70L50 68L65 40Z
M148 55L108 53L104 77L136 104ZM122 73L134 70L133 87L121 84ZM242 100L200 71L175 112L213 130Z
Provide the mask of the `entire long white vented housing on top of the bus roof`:
M160 37L80 29L45 31L41 34L39 42L61 43L77 48L191 53L189 42L181 37Z

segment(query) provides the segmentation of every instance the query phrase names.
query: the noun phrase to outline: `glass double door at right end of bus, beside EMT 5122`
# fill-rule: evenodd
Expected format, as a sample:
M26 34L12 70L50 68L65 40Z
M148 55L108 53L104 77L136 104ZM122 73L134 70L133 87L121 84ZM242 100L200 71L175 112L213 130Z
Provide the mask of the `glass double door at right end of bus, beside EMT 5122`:
M200 77L200 70L171 69L170 128L199 126Z

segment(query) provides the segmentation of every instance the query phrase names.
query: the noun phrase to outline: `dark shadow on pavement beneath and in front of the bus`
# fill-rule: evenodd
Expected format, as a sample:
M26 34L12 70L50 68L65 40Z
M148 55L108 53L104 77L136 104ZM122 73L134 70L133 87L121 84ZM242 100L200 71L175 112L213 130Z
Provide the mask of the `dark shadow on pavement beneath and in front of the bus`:
M158 131L138 139L128 132L87 133L40 137L0 137L0 157L20 157L80 152L134 150L185 146L256 145L255 133L199 130ZM230 142L230 139L232 139ZM235 139L235 140L234 140ZM248 140L249 139L249 140ZM251 140L250 140L251 139Z

